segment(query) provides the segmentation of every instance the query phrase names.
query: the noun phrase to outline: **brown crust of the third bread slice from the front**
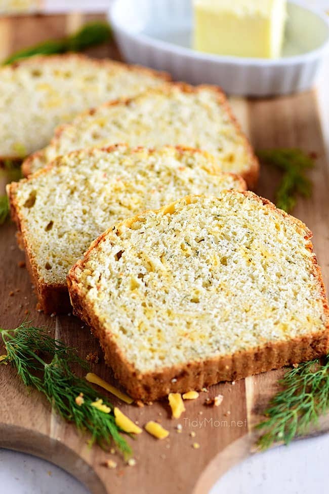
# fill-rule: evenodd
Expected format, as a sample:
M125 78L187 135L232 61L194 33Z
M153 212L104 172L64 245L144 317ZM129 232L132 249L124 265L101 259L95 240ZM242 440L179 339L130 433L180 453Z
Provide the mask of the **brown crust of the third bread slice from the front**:
M259 178L259 168L260 168L259 161L258 161L258 158L256 157L256 155L254 153L252 145L250 144L249 140L246 138L246 136L242 132L238 121L236 120L235 116L233 115L232 108L231 108L231 106L230 106L230 104L229 104L229 102L225 96L225 93L222 91L222 89L218 86L211 86L211 85L207 85L207 84L202 84L200 86L191 86L191 85L183 83L183 82L178 82L178 83L164 84L163 87L160 89L159 88L151 88L151 89L147 90L146 92L144 92L143 94L146 95L146 94L156 94L156 93L160 93L160 92L165 92L166 87L168 88L167 89L168 92L170 92L172 87L175 87L175 88L180 89L183 93L198 93L202 90L207 90L207 91L212 91L217 95L217 101L218 101L219 105L221 105L224 108L230 121L232 122L232 124L235 127L237 135L243 140L244 147L246 149L246 153L250 159L250 163L251 163L250 168L248 170L246 170L245 172L240 173L240 175L246 181L248 188L255 189L255 187L257 186L257 183L258 183L258 178ZM140 96L141 95L136 96L136 98L138 98ZM100 105L98 108L106 107L106 106L115 106L115 105L119 105L119 104L128 105L132 101L134 101L134 99L136 99L136 98L134 98L134 97L132 97L132 98L118 98L116 100L107 101L106 103L103 103L102 105ZM97 110L97 108L91 108L89 110L85 110L85 111L79 113L77 115L77 117L83 118L84 116L87 117L87 116L93 115L93 113L95 113L96 110ZM62 133L67 128L69 128L71 126L72 126L72 124L70 124L70 123L62 124L62 125L58 126L55 129L54 137L51 140L51 145L56 145L56 143L60 139ZM36 158L42 158L43 156L44 156L44 150L40 149L39 151L36 151L35 153L33 153L32 155L30 155L28 158L26 158L24 160L24 162L22 164L22 173L25 177L32 173L31 166L32 166L33 161Z

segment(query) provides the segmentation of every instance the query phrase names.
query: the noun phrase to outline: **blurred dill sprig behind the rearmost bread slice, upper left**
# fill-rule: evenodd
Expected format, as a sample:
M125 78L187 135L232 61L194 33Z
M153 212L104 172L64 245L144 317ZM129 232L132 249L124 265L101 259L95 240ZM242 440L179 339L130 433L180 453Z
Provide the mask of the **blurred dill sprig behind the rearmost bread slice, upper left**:
M105 43L111 38L112 30L105 22L89 22L74 34L64 37L61 40L49 40L38 45L24 48L10 57L3 65L16 62L21 58L32 57L33 55L53 55L56 53L79 52L92 46Z

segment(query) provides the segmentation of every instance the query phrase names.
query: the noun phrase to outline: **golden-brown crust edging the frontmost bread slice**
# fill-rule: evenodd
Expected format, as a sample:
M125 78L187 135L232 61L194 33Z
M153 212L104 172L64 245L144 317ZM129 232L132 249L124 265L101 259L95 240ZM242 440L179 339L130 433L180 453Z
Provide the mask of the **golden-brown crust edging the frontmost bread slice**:
M275 210L277 214L294 223L301 230L300 233L304 234L305 240L309 241L312 237L312 232L302 221L277 209L267 199L258 197L252 192L232 191L232 194L243 194L245 197L256 198L263 205L267 205L270 209ZM190 197L187 196L185 199ZM176 202L173 203L173 206L175 206ZM170 207L165 206L158 211L165 212ZM118 223L116 227L118 228L120 225L130 227L140 217L141 215L138 214L129 220ZM154 372L139 373L127 361L111 334L105 333L103 330L101 322L93 312L90 303L84 299L76 276L76 271L83 268L91 250L97 248L98 244L104 241L110 231L112 229L107 230L98 237L86 252L84 259L80 259L71 268L67 276L67 284L74 313L90 326L92 333L100 340L106 363L112 367L118 381L134 399L151 401L166 396L170 392L182 393L190 390L200 390L220 381L241 379L248 375L266 372L285 365L308 361L327 353L329 349L329 308L321 271L314 256L312 257L313 275L320 288L325 316L325 329L323 331L317 331L287 341L267 343L264 346L239 351L232 355L188 362L187 364L161 368ZM313 246L310 241L307 242L306 248L313 252Z

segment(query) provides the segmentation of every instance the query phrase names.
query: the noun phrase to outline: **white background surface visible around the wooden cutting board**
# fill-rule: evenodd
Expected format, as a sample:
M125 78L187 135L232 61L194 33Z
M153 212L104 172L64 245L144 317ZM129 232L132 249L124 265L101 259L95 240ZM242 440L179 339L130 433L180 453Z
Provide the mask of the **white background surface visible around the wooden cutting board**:
M138 0L136 0L138 1ZM234 0L233 0L234 1ZM308 0L329 10L328 0ZM47 0L54 10L102 8L104 0ZM319 109L329 162L329 60L318 80ZM329 435L297 441L253 457L232 468L211 494L310 494L328 491ZM89 491L58 467L26 454L0 449L0 492L4 494L88 494ZM113 494L115 494L113 492ZM130 494L130 493L127 493Z

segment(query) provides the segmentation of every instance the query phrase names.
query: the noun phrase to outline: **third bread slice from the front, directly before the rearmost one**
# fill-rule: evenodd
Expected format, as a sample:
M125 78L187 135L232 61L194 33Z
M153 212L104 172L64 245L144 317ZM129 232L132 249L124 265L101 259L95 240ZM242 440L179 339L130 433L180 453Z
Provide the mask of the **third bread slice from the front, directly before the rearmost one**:
M211 153L223 171L241 175L249 187L257 183L258 161L223 92L215 86L195 88L182 83L82 113L59 127L51 144L25 161L23 173L28 175L74 149L117 142L200 148Z

